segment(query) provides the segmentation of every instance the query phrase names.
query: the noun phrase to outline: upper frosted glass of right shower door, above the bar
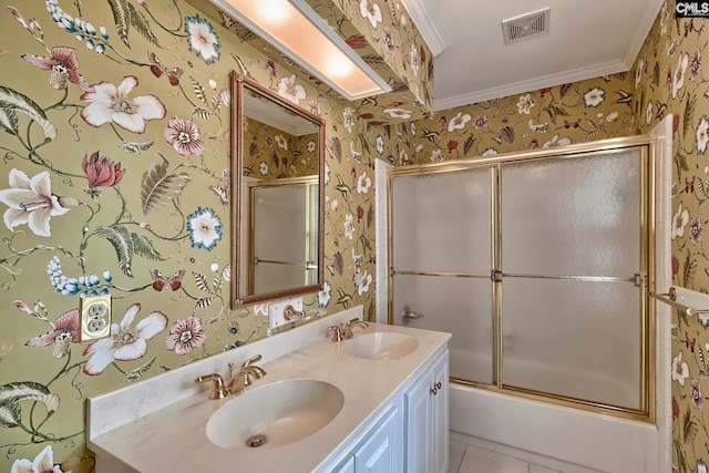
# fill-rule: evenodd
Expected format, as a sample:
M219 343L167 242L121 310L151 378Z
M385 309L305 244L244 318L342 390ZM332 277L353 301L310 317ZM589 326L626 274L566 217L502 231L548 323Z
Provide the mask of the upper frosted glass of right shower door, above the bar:
M639 176L637 150L503 166L503 273L638 273Z

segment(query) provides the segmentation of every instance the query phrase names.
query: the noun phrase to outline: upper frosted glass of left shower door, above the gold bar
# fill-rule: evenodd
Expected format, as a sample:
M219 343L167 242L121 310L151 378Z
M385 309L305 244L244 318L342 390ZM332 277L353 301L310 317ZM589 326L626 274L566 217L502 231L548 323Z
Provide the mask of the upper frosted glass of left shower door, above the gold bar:
M393 178L393 267L490 274L490 169Z

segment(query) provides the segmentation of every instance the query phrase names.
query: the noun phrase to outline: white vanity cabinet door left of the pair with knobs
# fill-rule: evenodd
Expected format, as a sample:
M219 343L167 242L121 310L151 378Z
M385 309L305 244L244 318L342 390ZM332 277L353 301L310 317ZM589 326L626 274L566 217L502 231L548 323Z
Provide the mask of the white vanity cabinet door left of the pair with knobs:
M384 414L354 452L356 473L402 473L402 413L400 403Z

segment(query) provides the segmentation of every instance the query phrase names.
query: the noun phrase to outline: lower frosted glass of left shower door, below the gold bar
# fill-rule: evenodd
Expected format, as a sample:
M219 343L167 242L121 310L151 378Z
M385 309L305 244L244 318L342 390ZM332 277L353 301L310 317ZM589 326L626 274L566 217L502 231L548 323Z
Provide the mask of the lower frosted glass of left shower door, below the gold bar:
M492 383L492 281L483 278L394 276L394 325L450 332L450 376ZM405 323L404 305L423 317Z

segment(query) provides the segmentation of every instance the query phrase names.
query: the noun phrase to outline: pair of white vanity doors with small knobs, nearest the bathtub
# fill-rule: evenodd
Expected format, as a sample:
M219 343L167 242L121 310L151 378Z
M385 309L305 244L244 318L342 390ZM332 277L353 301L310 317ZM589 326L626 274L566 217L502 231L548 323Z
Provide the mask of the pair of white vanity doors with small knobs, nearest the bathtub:
M448 471L448 350L404 393L407 473Z

